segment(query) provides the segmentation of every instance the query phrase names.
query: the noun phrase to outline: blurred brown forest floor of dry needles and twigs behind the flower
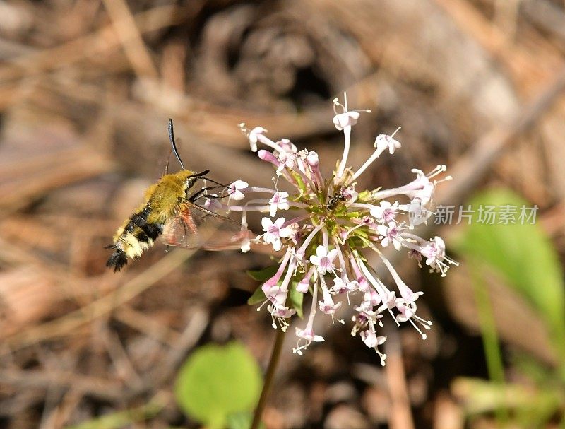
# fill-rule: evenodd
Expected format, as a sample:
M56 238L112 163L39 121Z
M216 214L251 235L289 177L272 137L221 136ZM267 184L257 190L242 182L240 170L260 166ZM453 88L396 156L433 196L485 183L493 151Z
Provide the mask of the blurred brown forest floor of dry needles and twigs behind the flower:
M352 165L402 127L364 186L446 164L438 204L537 218L428 225L460 266L399 259L427 340L386 331L381 368L348 321L304 356L290 335L266 428L563 427L564 53L563 0L0 1L0 426L198 428L174 396L196 348L239 341L264 370L246 271L268 254L157 245L114 274L104 247L162 174L169 117L188 168L267 186L237 125L331 171L347 90L372 111Z

